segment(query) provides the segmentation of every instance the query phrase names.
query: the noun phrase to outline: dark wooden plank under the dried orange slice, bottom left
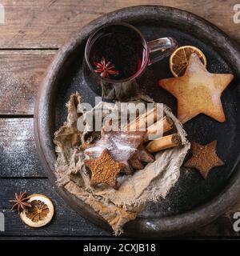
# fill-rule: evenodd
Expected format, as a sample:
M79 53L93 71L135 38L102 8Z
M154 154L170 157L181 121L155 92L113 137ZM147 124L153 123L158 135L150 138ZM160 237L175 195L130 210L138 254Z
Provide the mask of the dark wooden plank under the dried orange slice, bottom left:
M110 236L109 232L94 226L71 210L66 202L54 191L49 180L44 178L31 179L0 179L0 212L5 215L5 232L1 236ZM10 211L9 200L15 192L26 190L28 194L40 193L50 197L55 206L55 216L49 226L34 229L25 226L16 212Z

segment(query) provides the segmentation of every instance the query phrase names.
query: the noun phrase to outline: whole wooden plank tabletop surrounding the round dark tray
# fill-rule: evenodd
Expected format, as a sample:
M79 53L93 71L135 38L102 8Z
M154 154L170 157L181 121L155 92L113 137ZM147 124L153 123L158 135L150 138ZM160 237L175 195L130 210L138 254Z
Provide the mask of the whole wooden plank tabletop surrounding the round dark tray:
M240 42L234 23L236 1L191 0L26 0L0 2L0 212L5 215L5 238L110 238L111 234L78 216L53 190L34 142L34 98L46 67L71 34L102 14L126 6L158 4L189 10L213 22ZM32 229L10 211L14 192L42 193L53 199L56 216L50 226ZM230 213L186 237L238 236Z

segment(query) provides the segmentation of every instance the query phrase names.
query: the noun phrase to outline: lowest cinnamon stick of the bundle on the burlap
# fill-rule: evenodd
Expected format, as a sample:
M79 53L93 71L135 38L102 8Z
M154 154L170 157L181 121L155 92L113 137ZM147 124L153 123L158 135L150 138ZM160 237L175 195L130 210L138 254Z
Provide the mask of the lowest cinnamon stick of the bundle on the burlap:
M181 137L179 134L170 134L149 142L146 146L146 150L149 152L158 152L174 146L180 146L181 143Z

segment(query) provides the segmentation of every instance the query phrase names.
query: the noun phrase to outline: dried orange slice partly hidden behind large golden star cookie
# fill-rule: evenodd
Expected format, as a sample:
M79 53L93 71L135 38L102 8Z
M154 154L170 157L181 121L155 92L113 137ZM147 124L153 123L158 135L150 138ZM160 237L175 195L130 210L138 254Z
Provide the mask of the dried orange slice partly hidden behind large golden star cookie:
M195 46L181 46L174 50L170 56L170 70L174 77L181 77L185 73L191 54L197 54L206 67L206 57L202 50Z

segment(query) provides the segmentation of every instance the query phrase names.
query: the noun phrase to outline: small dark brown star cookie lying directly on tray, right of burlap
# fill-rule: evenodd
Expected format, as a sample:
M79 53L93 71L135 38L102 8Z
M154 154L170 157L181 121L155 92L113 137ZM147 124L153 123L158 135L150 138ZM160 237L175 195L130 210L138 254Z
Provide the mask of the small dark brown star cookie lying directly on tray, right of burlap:
M224 165L224 162L218 158L216 146L217 141L204 146L191 142L192 157L183 166L195 168L200 171L203 178L207 178L212 168Z

